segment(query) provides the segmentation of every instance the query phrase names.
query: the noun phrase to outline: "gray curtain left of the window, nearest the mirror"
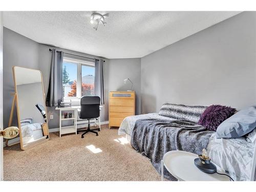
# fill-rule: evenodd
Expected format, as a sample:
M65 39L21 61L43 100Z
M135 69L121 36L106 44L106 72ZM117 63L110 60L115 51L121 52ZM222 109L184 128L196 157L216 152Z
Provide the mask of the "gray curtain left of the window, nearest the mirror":
M53 49L46 106L58 106L58 100L63 100L62 62L63 52Z

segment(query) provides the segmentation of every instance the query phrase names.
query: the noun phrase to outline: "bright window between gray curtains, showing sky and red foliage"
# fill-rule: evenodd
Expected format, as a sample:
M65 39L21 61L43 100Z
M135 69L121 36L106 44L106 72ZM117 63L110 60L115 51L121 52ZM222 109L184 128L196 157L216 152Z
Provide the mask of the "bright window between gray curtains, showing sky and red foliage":
M93 62L72 58L63 58L62 64L63 97L80 98L94 95Z

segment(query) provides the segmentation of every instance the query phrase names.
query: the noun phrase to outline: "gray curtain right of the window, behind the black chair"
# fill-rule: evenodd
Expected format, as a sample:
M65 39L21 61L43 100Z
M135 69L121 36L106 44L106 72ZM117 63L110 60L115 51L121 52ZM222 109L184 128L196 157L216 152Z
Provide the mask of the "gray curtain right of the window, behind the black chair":
M104 104L103 60L95 60L95 95L100 97L100 104Z

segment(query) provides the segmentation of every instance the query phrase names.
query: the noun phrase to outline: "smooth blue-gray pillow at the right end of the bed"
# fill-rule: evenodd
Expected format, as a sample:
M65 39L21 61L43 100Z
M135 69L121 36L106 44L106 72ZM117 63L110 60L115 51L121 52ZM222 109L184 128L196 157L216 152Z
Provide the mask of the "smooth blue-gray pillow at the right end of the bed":
M217 138L238 138L256 127L256 105L249 106L223 121L217 128Z

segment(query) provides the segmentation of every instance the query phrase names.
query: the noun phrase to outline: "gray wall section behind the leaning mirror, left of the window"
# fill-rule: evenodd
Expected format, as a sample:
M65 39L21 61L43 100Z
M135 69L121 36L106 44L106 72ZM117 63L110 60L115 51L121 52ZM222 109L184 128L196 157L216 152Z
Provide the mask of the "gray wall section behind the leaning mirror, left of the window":
M38 43L22 36L14 31L4 28L4 127L8 126L12 96L14 93L14 82L12 67L20 66L31 69L38 69ZM14 111L13 125L17 126L16 109Z

